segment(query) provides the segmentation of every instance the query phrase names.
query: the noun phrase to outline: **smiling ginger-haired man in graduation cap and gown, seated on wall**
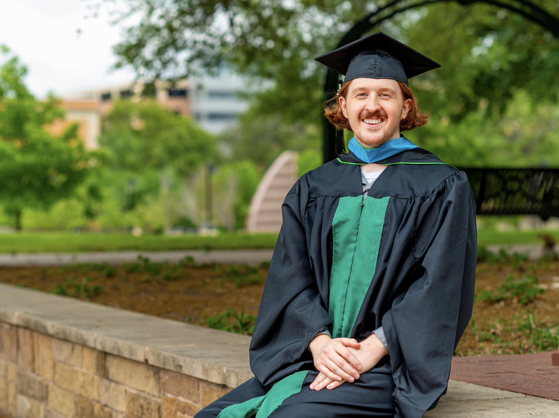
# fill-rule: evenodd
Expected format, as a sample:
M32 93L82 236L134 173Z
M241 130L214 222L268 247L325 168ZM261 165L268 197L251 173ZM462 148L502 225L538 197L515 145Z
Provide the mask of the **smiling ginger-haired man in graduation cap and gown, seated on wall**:
M428 119L408 77L439 65L380 32L317 60L345 74L325 115L355 137L283 203L255 378L196 418L420 418L446 391L472 311L475 205L463 172L400 134Z

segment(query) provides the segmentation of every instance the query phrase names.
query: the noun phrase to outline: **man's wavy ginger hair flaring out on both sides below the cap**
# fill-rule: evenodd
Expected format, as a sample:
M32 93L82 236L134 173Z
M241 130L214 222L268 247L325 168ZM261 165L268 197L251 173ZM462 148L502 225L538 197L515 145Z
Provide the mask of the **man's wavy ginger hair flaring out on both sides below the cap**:
M353 80L344 83L338 95L334 96L330 100L324 102L324 116L338 129L348 129L353 132L351 126L349 126L349 120L344 116L342 112L342 106L340 106L340 97L347 97L349 86L351 86ZM406 130L412 130L418 126L423 126L429 120L429 114L423 113L419 109L417 98L411 91L411 88L406 86L406 84L396 81L400 86L404 100L411 98L411 108L408 112L406 119L400 121L400 132Z

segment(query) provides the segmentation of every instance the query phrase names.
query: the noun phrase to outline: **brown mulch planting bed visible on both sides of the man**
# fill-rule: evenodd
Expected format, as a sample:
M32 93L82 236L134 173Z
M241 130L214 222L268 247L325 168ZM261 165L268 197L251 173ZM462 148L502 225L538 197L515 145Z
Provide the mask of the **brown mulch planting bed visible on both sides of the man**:
M229 307L239 314L246 309L246 313L256 316L267 269L267 265L254 269L219 264L167 265L140 260L121 266L3 267L0 268L0 282L66 293L107 306L207 326L209 317ZM557 349L559 261L480 262L476 270L476 295L503 284L507 275L519 278L526 274L536 275L545 293L527 304L514 297L500 302L476 301L472 320L456 355ZM520 323L527 321L533 330L519 330ZM547 332L547 345L538 344L538 339L543 338L536 335L538 330Z

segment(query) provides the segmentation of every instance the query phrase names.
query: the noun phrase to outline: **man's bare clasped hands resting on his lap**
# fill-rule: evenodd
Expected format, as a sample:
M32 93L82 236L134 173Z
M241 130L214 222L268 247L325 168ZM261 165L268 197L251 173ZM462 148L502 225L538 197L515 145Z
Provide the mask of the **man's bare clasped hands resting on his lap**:
M315 391L334 389L344 382L354 382L360 373L371 370L387 353L376 334L361 344L353 338L334 338L320 334L312 339L309 348L318 376L310 384Z

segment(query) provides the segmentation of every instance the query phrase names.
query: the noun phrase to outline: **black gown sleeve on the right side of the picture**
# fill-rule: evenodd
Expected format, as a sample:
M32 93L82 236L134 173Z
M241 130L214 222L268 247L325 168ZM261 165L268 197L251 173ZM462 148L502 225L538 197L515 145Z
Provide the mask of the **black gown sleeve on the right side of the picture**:
M437 405L472 314L477 232L465 173L448 177L420 204L415 227L415 281L382 318L395 418L421 418Z

